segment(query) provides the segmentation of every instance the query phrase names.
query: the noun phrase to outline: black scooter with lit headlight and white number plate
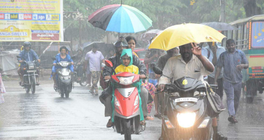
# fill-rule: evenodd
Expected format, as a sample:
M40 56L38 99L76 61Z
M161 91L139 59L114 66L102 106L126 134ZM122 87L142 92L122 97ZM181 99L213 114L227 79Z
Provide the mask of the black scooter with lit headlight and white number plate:
M153 70L162 74L157 66ZM202 81L190 77L166 84L165 108L161 112L164 139L211 139L212 118L207 115L206 91Z

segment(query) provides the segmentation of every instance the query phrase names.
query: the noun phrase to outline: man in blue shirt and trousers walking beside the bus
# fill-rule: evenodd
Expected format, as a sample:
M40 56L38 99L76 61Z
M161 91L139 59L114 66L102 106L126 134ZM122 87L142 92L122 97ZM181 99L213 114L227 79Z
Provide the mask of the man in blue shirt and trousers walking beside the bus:
M241 70L248 68L248 60L246 55L241 50L235 49L235 41L233 39L226 40L227 51L220 54L217 61L217 69L214 83L217 84L217 79L220 75L221 68L224 67L224 90L226 94L226 102L228 108L228 121L237 123L235 115L239 105L241 94L242 72Z

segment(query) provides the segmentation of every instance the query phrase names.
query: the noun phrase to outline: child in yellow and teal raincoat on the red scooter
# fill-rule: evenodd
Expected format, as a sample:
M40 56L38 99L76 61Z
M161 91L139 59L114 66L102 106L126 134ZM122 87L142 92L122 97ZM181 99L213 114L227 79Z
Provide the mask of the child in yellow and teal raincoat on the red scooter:
M139 68L135 65L133 65L133 58L132 58L132 50L131 49L123 49L122 54L121 54L121 61L122 64L117 66L115 69L116 74L121 73L121 72L131 72L134 74L139 74ZM137 83L134 83L133 86L137 87L138 93L140 94L140 85L141 85L141 80ZM112 85L114 86L114 85ZM114 88L112 88L114 89ZM112 95L114 96L114 90ZM114 113L114 97L112 98L112 110ZM141 107L141 98L139 96L139 110L140 110L140 124L144 125L145 120L143 116L143 111ZM113 116L113 114L112 114ZM112 118L112 117L111 117ZM114 122L114 119L112 118L112 122Z

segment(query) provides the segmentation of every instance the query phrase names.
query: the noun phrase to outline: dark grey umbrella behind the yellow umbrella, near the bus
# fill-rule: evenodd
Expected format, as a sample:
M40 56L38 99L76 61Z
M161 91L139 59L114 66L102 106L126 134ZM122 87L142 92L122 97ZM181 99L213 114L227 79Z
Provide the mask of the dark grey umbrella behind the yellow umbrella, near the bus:
M237 27L228 24L228 23L224 23L224 22L206 22L206 23L200 23L203 25L207 25L209 27L212 27L216 30L238 30Z

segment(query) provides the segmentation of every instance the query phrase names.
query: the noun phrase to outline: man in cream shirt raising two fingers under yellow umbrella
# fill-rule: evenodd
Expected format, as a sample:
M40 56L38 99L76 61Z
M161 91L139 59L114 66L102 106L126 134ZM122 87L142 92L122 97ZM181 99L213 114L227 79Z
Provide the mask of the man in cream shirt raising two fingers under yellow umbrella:
M173 80L181 77L192 77L197 80L203 81L203 76L208 75L214 71L213 64L205 57L202 56L202 50L196 43L189 43L179 47L180 54L176 57L170 58L164 69L163 74L168 77L173 77ZM164 90L165 84L170 83L171 79L162 76L159 79L159 89ZM226 140L223 134L217 130L216 118L213 118L213 140ZM163 139L163 134L159 138Z

